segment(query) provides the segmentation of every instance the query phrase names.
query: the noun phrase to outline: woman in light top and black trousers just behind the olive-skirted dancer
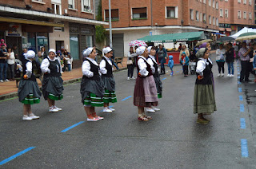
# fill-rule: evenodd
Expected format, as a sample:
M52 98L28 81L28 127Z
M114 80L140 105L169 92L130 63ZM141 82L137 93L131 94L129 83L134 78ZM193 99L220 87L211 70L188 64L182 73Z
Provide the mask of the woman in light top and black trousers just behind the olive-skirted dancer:
M223 44L220 44L219 49L216 50L216 63L218 65L218 77L224 77L225 53L226 53L226 50L223 48Z

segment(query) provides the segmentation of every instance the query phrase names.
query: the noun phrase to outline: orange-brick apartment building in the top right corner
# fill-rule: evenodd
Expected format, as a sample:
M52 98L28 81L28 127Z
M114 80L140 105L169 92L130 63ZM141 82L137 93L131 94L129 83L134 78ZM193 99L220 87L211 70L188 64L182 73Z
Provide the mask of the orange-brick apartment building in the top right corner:
M219 31L227 36L243 27L254 27L253 0L219 1Z

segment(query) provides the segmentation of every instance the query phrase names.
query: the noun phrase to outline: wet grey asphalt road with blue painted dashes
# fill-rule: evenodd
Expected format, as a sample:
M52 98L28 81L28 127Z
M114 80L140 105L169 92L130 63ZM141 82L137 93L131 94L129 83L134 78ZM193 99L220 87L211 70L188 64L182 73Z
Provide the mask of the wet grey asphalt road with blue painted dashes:
M183 77L181 69L174 66L174 77L170 71L161 77L161 111L150 113L148 122L137 120L135 81L126 81L126 71L114 73L116 112L96 108L105 117L98 122L86 121L80 83L64 87L57 102L62 112L47 112L43 99L34 104L40 120L22 121L17 98L0 102L0 168L256 168L256 100L249 102L255 85L238 84L236 64L235 77L217 77L214 63L218 111L207 116L210 124L196 124L195 76Z

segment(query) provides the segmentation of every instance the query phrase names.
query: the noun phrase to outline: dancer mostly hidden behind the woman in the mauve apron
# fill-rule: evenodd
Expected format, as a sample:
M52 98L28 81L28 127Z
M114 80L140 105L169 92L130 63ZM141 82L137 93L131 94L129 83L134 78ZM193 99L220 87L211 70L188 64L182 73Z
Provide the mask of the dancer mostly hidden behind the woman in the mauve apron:
M155 56L155 49L154 46L149 46L147 48L148 52L149 52L149 57L147 58L148 63L150 64L150 66L154 67L154 73L153 73L153 77L154 77L154 82L158 91L158 99L162 98L162 81L160 80L160 75L158 73L158 62L155 60L154 56ZM151 106L151 108L146 108L146 112L156 112L156 111L160 111L159 108L155 108L154 106Z

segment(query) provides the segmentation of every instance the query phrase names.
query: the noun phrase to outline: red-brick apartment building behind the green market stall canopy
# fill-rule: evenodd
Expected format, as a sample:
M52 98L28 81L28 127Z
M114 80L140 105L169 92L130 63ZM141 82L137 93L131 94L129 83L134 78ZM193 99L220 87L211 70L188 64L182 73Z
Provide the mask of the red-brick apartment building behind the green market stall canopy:
M102 0L103 21L109 21L108 0ZM146 35L204 31L218 32L218 1L119 0L111 1L113 46L118 57L129 51L129 42ZM108 30L108 26L106 26Z

